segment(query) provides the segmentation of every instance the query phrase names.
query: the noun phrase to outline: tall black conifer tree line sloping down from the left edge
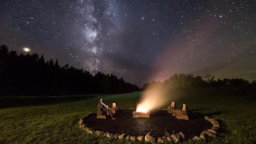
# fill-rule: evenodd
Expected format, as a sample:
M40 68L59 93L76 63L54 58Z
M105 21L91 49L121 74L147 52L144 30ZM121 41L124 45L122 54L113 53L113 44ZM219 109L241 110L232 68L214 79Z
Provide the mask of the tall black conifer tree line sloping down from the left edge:
M83 69L65 65L53 59L45 62L42 54L9 52L0 48L0 95L87 95L114 94L140 90L113 74L92 75Z

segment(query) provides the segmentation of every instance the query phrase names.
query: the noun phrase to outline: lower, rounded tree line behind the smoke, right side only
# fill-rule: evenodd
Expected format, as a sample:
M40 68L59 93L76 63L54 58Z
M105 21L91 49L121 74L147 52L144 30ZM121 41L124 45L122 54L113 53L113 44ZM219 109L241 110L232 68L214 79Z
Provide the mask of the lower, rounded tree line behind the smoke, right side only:
M221 92L227 95L248 95L255 97L256 80L249 82L240 78L215 80L214 75L205 77L194 76L190 74L176 74L164 82L148 82L143 85L143 90L208 90L212 92Z

